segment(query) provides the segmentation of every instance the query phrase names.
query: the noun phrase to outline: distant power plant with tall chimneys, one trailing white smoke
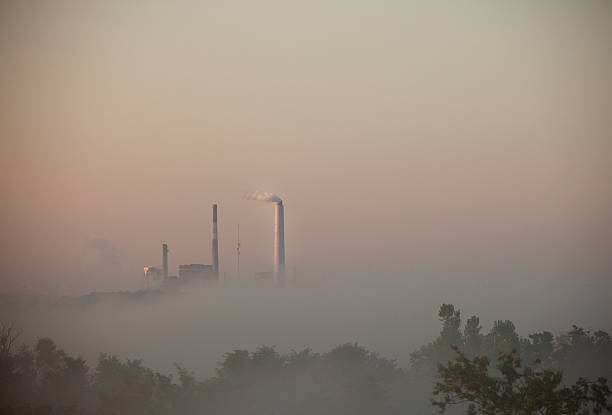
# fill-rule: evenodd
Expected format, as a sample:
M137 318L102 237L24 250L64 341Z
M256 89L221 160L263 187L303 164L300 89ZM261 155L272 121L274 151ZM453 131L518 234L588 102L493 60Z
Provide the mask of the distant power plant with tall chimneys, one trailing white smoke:
M274 204L274 253L272 271L255 273L256 279L273 278L282 285L285 283L285 206L283 200L266 192L254 192L244 197L249 200ZM240 232L240 231L238 231ZM239 235L239 234L238 234ZM218 205L212 205L212 238L210 261L211 264L180 264L178 276L168 275L168 244L162 243L162 266L144 267L145 281L148 287L174 287L186 282L213 282L219 281L219 221ZM240 236L236 247L237 272L240 271Z

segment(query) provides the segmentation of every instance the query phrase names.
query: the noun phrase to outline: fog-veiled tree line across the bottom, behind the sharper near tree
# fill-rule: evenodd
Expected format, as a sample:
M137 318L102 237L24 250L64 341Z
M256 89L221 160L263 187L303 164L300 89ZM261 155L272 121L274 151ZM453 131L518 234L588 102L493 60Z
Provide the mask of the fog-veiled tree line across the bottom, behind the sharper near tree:
M511 378L518 376L516 379L542 391L566 396L583 390L591 394L588 396L600 393L604 401L607 399L605 381L592 381L612 375L612 340L606 332L591 333L573 327L556 338L549 332L521 338L510 321L497 321L489 333L482 334L478 317L469 318L461 329L459 310L447 304L440 308L439 317L440 336L412 354L408 369L351 343L322 354L310 349L280 354L262 346L252 352L226 353L216 375L205 381L179 366L173 376L155 372L140 360L121 360L107 354L101 354L95 367L90 368L83 359L69 356L48 338L39 339L34 348L17 347L15 330L5 325L0 330L0 413L435 413L436 409L446 409L454 399L465 398L456 395L457 384L452 382L464 382L459 390L462 393L476 393L466 389L470 382L502 382L495 384L501 387L503 381L499 379L504 379L503 370L508 365L516 372L506 372ZM506 359L501 361L505 364L499 369L501 375L488 367L488 362L500 353ZM538 369L525 367L519 372L517 362L538 362ZM440 364L446 366L438 374ZM579 380L580 377L591 380ZM429 399L436 380L436 391L443 396L438 408ZM575 382L578 383L570 386ZM539 395L534 396L536 399ZM487 414L574 413L514 411L514 406L504 407L493 395L469 397L477 398L476 404L481 402L493 411L481 411ZM492 406L487 397L493 399ZM485 406L473 410L479 408Z

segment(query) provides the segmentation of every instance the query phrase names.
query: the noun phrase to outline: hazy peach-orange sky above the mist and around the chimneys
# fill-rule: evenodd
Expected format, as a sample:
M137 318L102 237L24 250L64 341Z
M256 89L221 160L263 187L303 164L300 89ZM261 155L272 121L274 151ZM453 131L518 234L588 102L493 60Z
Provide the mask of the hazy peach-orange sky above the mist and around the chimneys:
M170 4L171 3L171 4ZM3 1L0 290L221 271L612 271L612 4ZM523 275L523 277L525 277Z

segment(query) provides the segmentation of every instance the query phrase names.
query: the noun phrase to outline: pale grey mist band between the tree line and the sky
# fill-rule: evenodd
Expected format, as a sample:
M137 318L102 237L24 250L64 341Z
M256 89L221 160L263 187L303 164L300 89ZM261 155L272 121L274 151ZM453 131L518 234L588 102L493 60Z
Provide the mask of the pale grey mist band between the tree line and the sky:
M12 322L24 343L50 337L90 364L106 352L143 359L161 372L177 363L200 378L214 375L225 353L261 345L281 353L305 347L322 352L357 342L407 367L410 353L439 333L442 303L455 304L465 318L478 315L485 328L511 320L523 336L559 334L572 324L612 326L604 282L502 277L329 271L290 276L283 287L244 278L173 292L3 295L0 320Z

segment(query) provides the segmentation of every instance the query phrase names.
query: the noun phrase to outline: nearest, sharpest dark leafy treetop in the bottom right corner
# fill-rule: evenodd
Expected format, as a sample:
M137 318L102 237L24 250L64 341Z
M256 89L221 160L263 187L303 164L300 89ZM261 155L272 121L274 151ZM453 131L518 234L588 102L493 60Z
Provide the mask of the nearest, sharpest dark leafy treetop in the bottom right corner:
M466 405L468 415L495 414L600 414L612 410L607 380L580 378L571 386L562 386L562 372L524 366L518 353L501 352L499 376L491 374L486 356L468 359L456 346L454 362L440 365L432 399L440 413L454 405Z

